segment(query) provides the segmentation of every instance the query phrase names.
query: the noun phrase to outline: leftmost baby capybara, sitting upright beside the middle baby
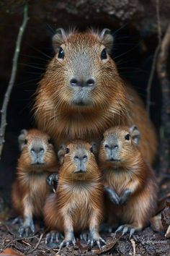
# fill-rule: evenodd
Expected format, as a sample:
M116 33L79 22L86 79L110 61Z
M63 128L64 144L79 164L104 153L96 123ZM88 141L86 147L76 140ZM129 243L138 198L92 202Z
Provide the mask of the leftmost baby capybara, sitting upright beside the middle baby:
M50 193L46 179L49 174L58 171L58 163L50 137L45 132L24 130L24 135L19 136L19 148L22 152L12 188L12 203L24 219L19 228L19 236L23 236L35 232L32 218L42 216L45 199Z

